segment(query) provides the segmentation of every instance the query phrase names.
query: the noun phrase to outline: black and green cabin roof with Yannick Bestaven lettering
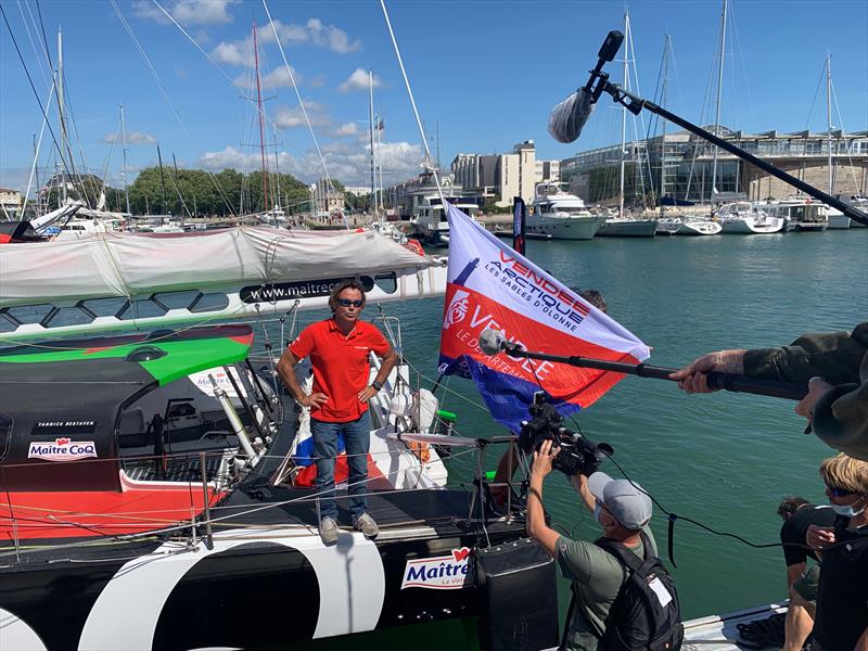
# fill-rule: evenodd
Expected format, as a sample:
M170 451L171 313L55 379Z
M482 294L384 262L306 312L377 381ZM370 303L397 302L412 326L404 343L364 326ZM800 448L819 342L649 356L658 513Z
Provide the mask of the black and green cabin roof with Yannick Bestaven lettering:
M0 490L119 489L120 408L190 373L243 360L246 324L0 352Z

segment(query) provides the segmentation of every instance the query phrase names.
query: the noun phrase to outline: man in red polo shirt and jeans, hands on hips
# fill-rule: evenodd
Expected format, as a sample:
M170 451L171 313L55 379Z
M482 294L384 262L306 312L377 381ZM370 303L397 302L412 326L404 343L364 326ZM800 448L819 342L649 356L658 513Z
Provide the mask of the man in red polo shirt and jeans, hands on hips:
M368 448L371 419L368 400L382 388L397 356L375 326L360 319L365 289L355 280L337 283L329 297L332 317L302 331L278 362L278 373L299 405L310 408L310 434L317 463L320 498L319 534L326 545L337 541L337 505L334 501L334 459L337 435L343 433L349 465L349 513L353 526L373 538L380 533L367 512ZM383 358L371 384L369 353ZM305 357L314 367L314 391L306 395L293 367Z

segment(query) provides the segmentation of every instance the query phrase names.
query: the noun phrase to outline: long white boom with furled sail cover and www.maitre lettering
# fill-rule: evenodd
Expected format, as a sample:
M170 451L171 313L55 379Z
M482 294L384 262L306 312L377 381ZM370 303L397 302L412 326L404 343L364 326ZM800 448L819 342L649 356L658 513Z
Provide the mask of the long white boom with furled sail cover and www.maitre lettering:
M242 227L97 233L0 247L0 339L256 318L321 307L359 279L372 302L442 295L442 261L367 230Z

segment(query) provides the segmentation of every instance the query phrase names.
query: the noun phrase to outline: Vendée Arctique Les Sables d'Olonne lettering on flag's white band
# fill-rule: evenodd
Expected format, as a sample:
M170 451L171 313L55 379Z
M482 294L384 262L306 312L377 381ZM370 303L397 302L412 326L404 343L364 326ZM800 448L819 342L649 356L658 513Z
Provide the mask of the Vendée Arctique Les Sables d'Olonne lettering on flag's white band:
M588 316L588 306L571 296L544 275L537 275L516 258L499 252L499 259L490 260L485 270L497 278L518 298L540 308L551 319L575 332Z

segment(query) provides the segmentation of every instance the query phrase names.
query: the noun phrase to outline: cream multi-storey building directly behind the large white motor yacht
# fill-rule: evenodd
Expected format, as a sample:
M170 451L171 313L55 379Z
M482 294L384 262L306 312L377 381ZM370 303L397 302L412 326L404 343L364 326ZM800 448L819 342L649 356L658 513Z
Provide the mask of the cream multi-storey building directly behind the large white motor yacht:
M558 161L537 161L534 141L525 140L509 154L458 154L450 169L465 194L476 194L485 202L508 207L514 196L532 202L536 183L558 180L559 167Z

